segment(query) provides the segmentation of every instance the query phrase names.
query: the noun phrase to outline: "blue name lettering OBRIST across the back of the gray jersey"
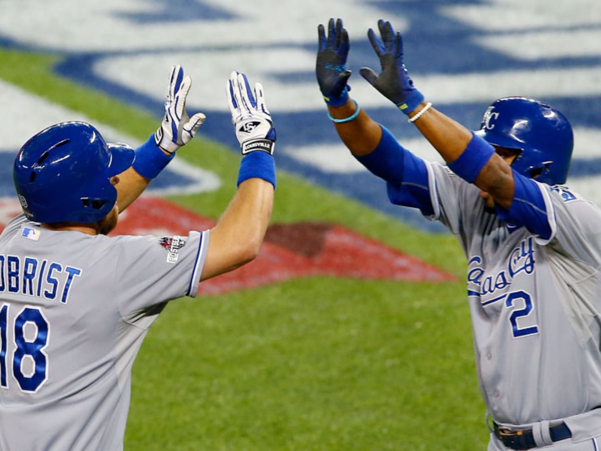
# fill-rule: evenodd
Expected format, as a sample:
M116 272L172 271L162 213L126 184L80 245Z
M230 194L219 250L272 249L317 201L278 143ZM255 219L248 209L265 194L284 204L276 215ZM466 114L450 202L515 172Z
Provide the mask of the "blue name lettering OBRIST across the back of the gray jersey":
M67 304L73 281L82 270L35 257L0 254L0 293L21 293Z

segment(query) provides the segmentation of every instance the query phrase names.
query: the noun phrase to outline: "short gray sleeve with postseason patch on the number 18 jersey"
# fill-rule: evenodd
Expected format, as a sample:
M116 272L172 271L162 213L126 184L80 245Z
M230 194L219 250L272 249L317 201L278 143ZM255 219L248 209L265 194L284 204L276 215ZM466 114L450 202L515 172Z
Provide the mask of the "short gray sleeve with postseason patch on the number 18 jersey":
M182 296L196 296L209 235L206 230L188 236L118 237L115 283L122 316Z

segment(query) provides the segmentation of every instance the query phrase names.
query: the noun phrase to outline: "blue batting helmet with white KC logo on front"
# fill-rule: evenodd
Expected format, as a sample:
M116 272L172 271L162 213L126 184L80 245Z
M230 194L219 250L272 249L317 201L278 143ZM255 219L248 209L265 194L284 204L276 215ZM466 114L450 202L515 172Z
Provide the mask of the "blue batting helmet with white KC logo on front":
M574 138L567 118L552 106L527 97L504 97L490 105L476 132L490 144L520 150L511 164L538 182L565 183Z

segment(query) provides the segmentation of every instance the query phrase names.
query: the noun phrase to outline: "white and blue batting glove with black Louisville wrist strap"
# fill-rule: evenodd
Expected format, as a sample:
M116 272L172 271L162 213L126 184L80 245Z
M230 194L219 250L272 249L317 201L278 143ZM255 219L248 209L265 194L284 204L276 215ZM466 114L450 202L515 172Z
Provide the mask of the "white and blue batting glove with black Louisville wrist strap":
M253 94L246 75L234 71L225 89L230 105L231 123L234 124L242 155L255 150L273 155L275 128L271 114L265 106L263 85L255 83Z

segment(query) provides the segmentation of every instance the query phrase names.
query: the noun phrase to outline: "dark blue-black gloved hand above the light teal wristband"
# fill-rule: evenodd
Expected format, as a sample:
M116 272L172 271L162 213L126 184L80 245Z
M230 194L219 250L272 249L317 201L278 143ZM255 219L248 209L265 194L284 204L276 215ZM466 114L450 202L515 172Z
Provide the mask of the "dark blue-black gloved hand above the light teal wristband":
M328 105L344 105L349 99L350 91L347 81L350 70L346 68L349 54L349 34L343 27L342 19L330 19L328 37L322 24L317 27L319 49L317 51L316 75L323 100Z

